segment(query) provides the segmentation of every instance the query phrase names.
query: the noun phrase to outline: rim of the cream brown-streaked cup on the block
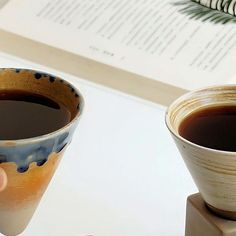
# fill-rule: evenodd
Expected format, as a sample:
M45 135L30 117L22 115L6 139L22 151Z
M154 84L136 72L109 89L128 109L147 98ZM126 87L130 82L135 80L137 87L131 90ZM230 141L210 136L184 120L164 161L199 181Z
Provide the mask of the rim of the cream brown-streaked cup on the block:
M179 132L177 130L175 130L170 122L170 110L172 107L176 106L178 103L180 103L181 101L186 100L187 98L190 98L193 94L199 93L201 91L204 90L212 90L212 89L222 89L222 88L235 88L236 90L236 84L223 84L223 85L213 85L213 86L206 86L206 87L202 87L199 89L195 89L195 90L191 90L183 95L181 95L180 97L178 97L177 99L175 99L166 109L165 112L165 124L166 127L168 128L168 130L170 131L170 133L177 139L180 139L182 142L187 143L188 145L190 145L193 148L199 148L203 151L209 151L209 152L213 152L213 153L220 153L220 154L225 154L225 155L234 155L235 156L235 152L232 151L224 151L224 150L219 150L219 149L213 149L213 148L209 148L209 147L204 147L201 146L199 144L193 143L187 139L185 139L184 137L182 137Z

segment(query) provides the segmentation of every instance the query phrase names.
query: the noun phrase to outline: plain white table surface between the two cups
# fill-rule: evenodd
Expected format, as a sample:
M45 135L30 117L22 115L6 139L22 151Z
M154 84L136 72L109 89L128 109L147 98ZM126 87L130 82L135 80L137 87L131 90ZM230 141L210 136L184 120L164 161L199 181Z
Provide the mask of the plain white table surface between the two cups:
M165 107L0 54L74 83L85 110L74 139L22 236L183 236L197 191L164 123Z

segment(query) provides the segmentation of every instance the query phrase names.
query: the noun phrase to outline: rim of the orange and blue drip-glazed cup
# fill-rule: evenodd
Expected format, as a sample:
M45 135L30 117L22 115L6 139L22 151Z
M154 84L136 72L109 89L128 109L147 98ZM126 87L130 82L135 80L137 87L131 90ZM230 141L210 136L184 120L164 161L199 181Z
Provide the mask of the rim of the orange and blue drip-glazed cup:
M77 122L77 120L81 117L83 110L84 110L84 98L81 94L81 92L70 82L68 82L67 80L65 80L64 78L61 78L57 75L42 71L42 70L38 70L38 69L28 69L28 68L24 68L24 67L2 67L0 68L0 72L4 71L4 70L23 70L23 71L27 71L30 73L40 73L40 74L44 74L47 76L53 76L57 79L60 79L64 82L64 84L70 86L71 88L74 89L75 93L79 95L79 109L78 112L76 113L75 117L66 125L62 126L61 128L52 131L50 133L47 134L43 134L43 135L39 135L39 136L34 136L34 137L30 137L30 138L23 138L23 139L4 139L4 140L0 140L0 146L5 146L6 143L9 143L10 145L24 145L25 143L27 144L33 144L33 143L37 143L40 141L44 141L47 139L50 139L52 137L55 136L59 136L60 134L62 134L65 130L69 129L69 127L71 127L73 124L75 124ZM1 90L1 89L0 89Z

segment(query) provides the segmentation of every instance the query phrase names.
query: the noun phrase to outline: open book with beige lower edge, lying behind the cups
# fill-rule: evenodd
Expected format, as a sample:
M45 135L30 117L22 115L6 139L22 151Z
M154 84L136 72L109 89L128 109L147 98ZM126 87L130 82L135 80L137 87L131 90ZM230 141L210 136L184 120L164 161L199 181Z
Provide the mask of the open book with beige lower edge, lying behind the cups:
M167 105L236 74L236 23L179 1L4 0L0 50Z

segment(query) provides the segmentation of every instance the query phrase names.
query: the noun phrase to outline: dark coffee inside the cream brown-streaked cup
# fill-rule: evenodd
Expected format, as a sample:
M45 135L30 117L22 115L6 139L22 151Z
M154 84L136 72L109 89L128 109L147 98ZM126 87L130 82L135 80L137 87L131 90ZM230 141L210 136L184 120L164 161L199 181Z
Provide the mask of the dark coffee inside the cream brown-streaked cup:
M185 139L212 149L236 151L236 106L206 108L189 115L179 127Z

